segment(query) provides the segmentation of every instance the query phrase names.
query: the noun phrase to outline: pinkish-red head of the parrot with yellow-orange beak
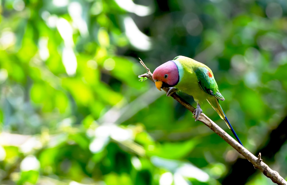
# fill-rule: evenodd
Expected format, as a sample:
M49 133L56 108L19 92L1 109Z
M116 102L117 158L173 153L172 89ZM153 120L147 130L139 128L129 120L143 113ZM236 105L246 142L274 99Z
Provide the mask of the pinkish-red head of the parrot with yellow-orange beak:
M168 61L158 66L152 74L156 88L173 87L179 82L179 71L174 61Z

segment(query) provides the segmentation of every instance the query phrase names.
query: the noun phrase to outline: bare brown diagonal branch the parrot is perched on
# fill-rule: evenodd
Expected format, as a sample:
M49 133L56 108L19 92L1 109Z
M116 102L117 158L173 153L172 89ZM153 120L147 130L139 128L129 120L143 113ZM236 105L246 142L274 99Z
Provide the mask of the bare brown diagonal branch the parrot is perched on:
M147 77L151 81L154 82L152 79L152 73L150 69L146 67L144 62L140 60L140 63L144 66L144 68L148 71L145 74L139 75L139 77ZM165 92L168 91L168 88L162 88ZM187 101L181 98L176 93L171 94L171 97L177 100L180 104L182 104L185 108L187 108L192 113L194 112L195 108L191 106ZM280 174L271 168L267 164L265 164L261 159L261 154L259 153L259 158L254 156L251 152L249 152L246 148L241 146L236 140L234 140L229 134L227 134L222 128L220 128L215 122L213 122L210 118L208 118L205 114L201 113L199 116L199 121L203 122L206 126L208 126L211 130L213 130L217 135L219 135L223 140L225 140L230 146L232 146L237 152L242 154L247 160L249 160L254 168L258 168L265 176L270 178L276 184L284 184L287 185L286 180L280 176Z

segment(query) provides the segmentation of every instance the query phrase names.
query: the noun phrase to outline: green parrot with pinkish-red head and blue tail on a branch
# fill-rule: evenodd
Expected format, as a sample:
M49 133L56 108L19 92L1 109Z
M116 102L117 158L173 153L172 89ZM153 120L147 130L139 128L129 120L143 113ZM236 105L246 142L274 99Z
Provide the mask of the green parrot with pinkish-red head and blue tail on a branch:
M214 75L209 67L191 58L177 56L172 61L157 67L152 78L158 90L161 91L162 87L170 87L166 93L167 96L177 90L193 96L197 103L193 112L195 121L198 120L199 114L202 112L200 104L207 100L220 118L226 122L237 141L243 146L219 104L219 100L224 101L224 97L220 94Z

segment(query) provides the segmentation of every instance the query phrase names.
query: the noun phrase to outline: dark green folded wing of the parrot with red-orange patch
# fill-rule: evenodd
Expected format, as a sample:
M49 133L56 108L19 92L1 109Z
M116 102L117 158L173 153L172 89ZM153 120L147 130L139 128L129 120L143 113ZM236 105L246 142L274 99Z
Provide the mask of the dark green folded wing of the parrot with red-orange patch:
M219 100L224 100L224 97L218 91L218 86L212 71L206 67L197 67L194 72L197 76L198 83L204 92L216 97Z

